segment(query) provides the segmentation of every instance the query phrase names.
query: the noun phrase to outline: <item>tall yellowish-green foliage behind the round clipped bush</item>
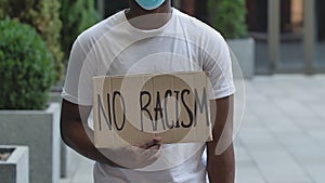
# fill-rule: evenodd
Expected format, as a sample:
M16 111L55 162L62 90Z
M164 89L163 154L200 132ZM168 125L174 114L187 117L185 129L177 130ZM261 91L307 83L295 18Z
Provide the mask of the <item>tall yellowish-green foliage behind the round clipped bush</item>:
M0 17L18 18L32 26L46 41L54 56L56 80L62 79L63 52L61 50L61 28L58 0L0 0Z

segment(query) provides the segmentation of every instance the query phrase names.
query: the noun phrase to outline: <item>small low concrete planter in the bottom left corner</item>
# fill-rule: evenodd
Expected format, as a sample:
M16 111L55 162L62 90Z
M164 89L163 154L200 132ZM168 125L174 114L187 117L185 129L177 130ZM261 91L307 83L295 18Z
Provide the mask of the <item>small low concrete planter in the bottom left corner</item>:
M0 153L11 153L6 160L0 161L1 183L29 183L28 147L0 146Z

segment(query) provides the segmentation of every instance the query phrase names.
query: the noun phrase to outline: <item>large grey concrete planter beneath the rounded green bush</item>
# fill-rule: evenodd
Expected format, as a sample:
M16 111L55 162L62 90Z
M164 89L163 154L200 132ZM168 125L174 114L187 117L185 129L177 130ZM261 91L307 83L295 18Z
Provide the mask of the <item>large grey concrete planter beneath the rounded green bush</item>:
M60 105L46 110L0 110L0 144L29 147L31 183L60 181Z

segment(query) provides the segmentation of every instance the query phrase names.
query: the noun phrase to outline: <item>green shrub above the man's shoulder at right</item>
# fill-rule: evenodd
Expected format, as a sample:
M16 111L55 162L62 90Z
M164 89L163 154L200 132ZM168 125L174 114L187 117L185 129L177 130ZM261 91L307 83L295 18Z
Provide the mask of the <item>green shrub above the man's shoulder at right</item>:
M208 0L210 24L224 38L243 38L247 34L245 24L245 0Z

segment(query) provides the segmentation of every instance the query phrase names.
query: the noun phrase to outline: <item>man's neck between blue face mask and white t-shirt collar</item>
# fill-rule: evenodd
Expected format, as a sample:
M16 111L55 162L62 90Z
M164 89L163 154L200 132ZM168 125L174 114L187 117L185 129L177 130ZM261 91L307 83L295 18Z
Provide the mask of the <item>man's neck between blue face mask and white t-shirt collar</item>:
M144 10L134 0L130 0L126 11L129 23L140 29L156 29L164 26L171 16L170 0L166 0L155 10Z

